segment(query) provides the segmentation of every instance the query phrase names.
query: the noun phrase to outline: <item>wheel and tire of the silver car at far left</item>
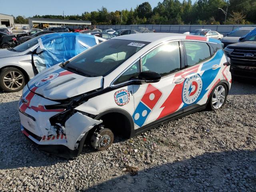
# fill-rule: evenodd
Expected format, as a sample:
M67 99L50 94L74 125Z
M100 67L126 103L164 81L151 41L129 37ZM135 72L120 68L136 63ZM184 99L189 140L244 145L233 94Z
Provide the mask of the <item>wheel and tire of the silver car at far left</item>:
M8 67L0 71L0 88L5 92L20 91L25 84L25 75L17 68Z

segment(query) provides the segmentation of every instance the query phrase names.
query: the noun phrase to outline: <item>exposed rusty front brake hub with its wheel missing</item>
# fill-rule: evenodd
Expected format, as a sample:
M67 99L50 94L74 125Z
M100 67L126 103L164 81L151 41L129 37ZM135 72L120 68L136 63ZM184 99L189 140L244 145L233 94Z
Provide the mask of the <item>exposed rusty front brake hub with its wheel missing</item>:
M92 135L92 147L102 151L111 146L114 141L114 134L110 129L100 129Z

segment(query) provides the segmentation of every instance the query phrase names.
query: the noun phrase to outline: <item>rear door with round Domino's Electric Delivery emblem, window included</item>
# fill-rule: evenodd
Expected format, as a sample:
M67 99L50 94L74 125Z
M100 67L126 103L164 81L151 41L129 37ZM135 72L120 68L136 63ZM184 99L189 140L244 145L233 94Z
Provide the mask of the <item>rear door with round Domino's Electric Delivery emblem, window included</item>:
M220 70L219 64L223 54L211 54L210 45L207 42L183 41L186 64L186 76L182 101L184 112L199 105L206 104L212 82ZM211 58L213 57L213 58Z

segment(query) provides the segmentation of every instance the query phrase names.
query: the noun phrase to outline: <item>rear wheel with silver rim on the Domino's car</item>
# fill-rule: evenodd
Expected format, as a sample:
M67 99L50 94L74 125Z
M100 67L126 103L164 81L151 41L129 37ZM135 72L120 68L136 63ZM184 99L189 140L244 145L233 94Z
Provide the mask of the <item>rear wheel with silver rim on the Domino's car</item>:
M209 101L209 107L211 110L217 110L221 108L227 99L228 89L225 84L221 83L215 87L211 94Z

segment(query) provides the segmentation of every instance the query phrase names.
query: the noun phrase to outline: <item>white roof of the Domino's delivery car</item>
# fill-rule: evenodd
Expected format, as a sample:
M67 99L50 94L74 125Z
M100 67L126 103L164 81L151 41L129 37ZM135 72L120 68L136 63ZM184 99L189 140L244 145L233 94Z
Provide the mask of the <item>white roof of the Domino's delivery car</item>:
M159 40L184 39L186 36L186 34L178 33L137 33L114 37L114 39L154 42Z

